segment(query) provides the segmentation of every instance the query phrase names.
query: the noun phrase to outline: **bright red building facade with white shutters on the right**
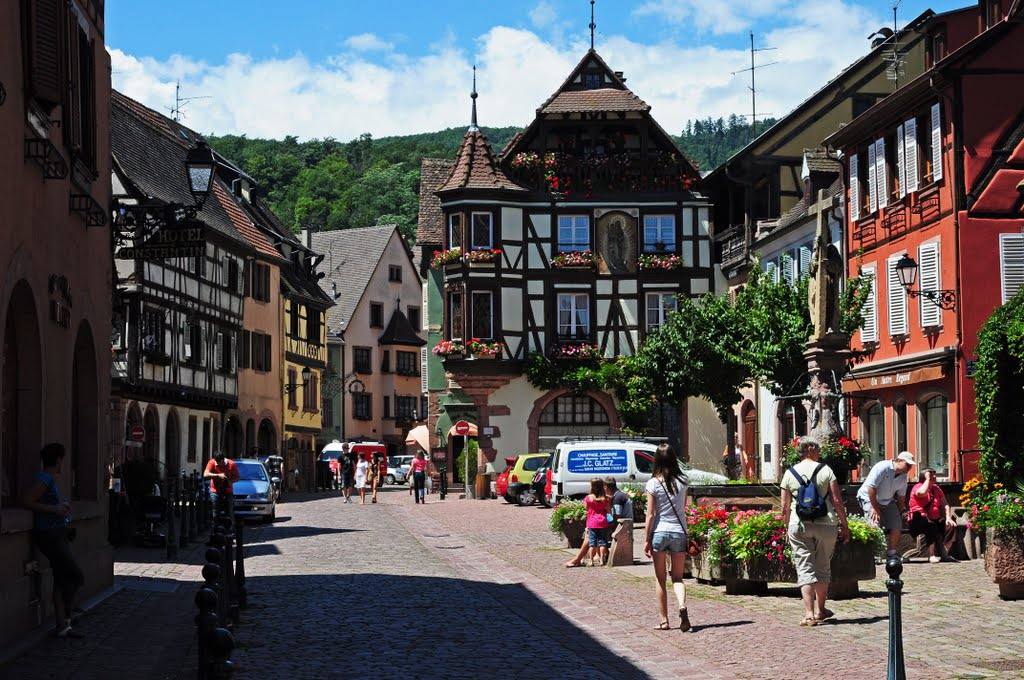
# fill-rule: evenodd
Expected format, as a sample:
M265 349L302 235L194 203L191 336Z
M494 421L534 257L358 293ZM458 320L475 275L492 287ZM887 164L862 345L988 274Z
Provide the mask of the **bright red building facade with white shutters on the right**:
M990 5L958 46L967 17L937 22L932 68L826 140L845 159L848 274L873 282L844 380L852 432L870 462L908 450L951 479L977 467L977 333L1024 283L1024 25Z

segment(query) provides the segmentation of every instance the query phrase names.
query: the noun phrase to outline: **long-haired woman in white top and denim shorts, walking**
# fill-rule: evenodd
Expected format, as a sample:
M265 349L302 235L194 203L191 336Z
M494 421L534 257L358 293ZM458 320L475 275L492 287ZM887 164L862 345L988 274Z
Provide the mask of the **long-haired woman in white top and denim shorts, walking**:
M672 590L679 604L679 630L690 630L686 611L686 487L689 480L679 467L676 453L663 443L654 452L654 471L644 491L647 492L647 537L644 554L654 560L654 580L662 623L655 630L667 631L669 625L669 594L665 588L666 561L671 557Z

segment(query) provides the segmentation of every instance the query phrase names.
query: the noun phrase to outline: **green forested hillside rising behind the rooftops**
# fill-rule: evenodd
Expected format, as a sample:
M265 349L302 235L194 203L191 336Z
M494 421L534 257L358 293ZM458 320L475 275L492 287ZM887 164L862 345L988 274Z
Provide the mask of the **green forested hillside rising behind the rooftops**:
M763 130L772 121L758 125ZM485 128L496 153L518 128ZM266 190L267 201L294 230L344 229L395 223L412 239L419 207L420 160L453 158L464 128L352 141L209 137ZM689 121L676 138L701 171L718 166L750 140L741 118Z

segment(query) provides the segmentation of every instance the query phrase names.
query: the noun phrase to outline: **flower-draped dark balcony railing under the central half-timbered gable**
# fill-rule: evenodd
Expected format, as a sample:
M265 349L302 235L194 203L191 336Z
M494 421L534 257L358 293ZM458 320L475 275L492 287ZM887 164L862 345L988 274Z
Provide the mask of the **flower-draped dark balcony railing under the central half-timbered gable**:
M581 156L563 152L519 154L509 161L512 178L536 192L563 198L594 194L680 193L696 177L678 154L639 152Z

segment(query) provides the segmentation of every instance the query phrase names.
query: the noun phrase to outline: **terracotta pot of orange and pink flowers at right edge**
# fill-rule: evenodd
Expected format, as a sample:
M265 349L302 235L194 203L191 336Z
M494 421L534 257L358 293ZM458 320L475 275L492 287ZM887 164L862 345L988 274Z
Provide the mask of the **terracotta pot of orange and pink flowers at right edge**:
M971 513L971 528L985 534L985 571L998 585L999 597L1024 599L1024 484L1009 491L998 481L971 479L961 503Z

